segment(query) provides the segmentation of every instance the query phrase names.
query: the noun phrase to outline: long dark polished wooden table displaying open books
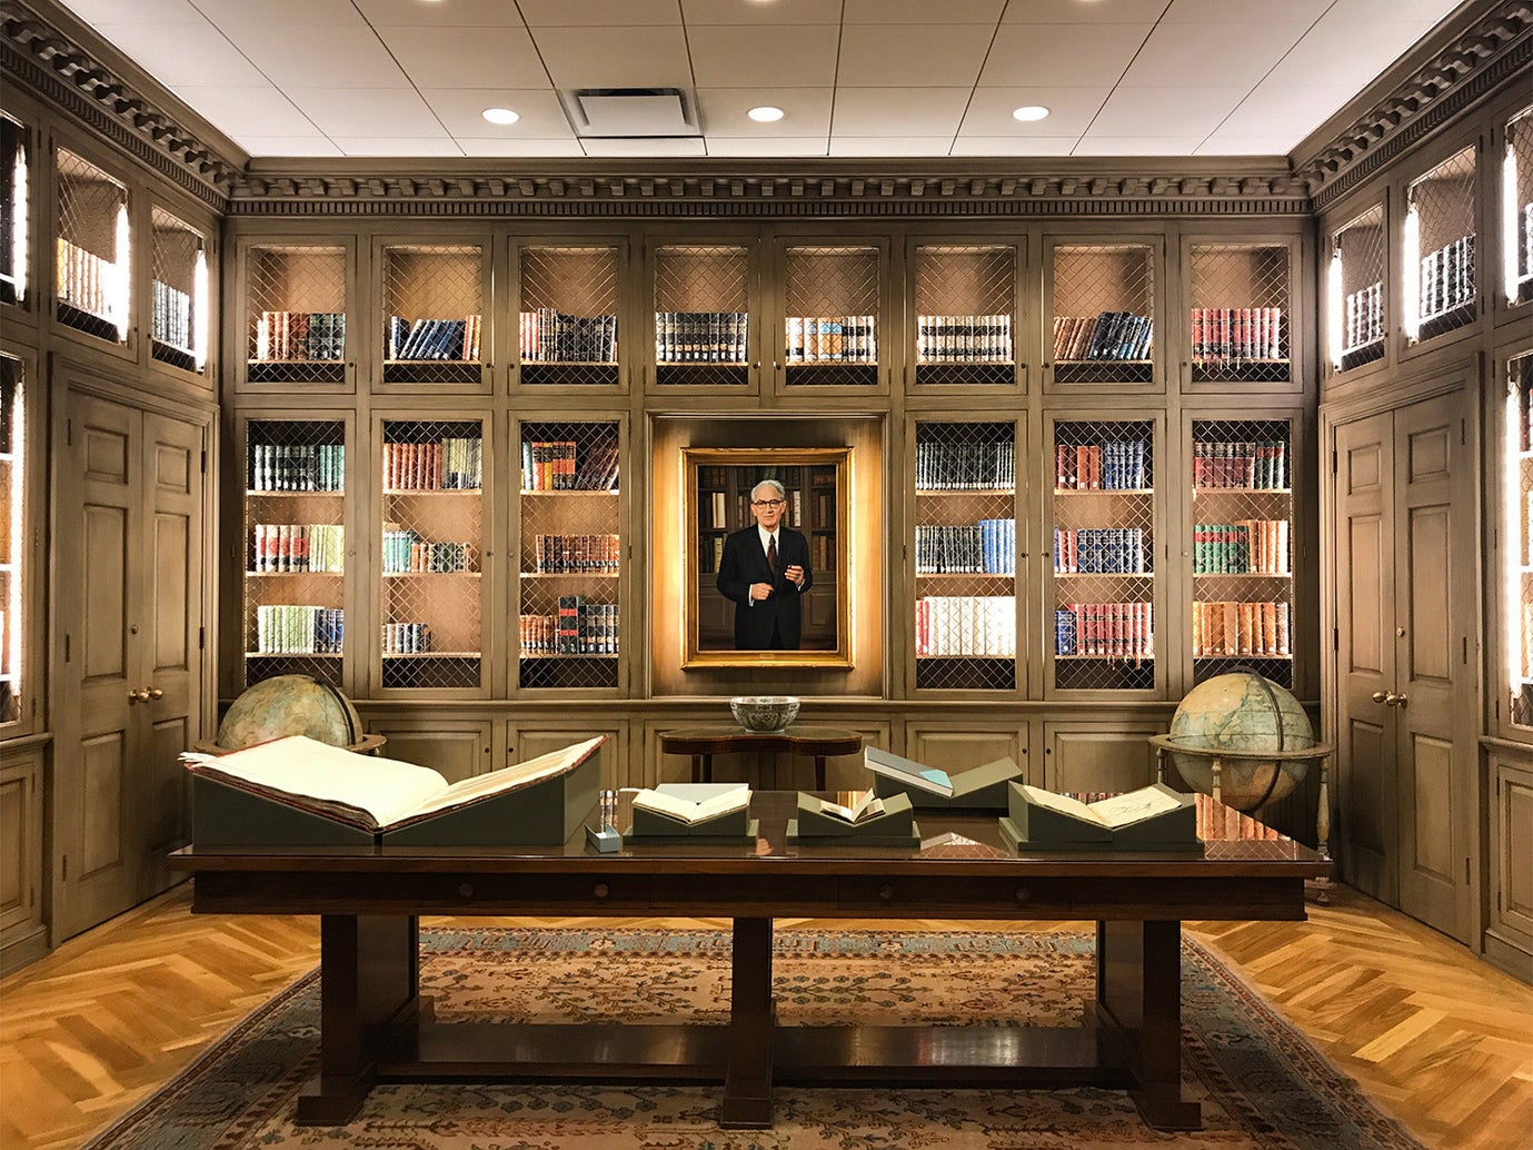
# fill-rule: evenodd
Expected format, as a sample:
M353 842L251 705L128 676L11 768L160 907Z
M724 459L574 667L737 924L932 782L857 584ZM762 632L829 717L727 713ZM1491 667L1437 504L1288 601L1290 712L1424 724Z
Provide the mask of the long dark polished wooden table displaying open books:
M618 793L625 825L632 791ZM1331 863L1206 796L1200 853L1010 854L993 816L918 813L921 848L789 843L794 791L760 791L754 845L178 851L207 914L320 915L320 1072L297 1121L346 1122L374 1083L452 1078L724 1081L719 1122L770 1127L774 1083L1127 1089L1157 1129L1182 1098L1180 922L1305 917ZM593 811L595 816L595 811ZM957 836L957 837L954 837ZM734 923L727 1026L442 1023L419 992L419 915L684 915ZM1096 923L1082 1027L779 1027L773 918L1075 918Z

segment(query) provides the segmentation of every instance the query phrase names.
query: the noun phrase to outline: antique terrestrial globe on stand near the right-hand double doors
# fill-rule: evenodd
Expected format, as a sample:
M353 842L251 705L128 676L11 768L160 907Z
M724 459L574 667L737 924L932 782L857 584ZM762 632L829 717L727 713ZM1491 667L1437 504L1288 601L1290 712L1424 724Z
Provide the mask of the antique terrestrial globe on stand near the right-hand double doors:
M1193 790L1214 793L1213 761L1220 757L1220 799L1256 811L1297 787L1309 757L1245 757L1260 751L1302 751L1315 731L1298 699L1256 672L1231 672L1197 684L1171 716L1171 762ZM1239 757L1237 757L1239 756Z

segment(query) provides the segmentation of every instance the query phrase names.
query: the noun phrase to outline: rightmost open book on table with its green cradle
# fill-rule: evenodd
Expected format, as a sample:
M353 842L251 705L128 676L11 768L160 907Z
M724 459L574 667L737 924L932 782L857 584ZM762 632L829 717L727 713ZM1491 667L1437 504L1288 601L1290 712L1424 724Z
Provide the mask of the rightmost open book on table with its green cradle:
M1202 846L1194 796L1159 782L1091 803L1013 784L1001 837L1016 851L1190 851Z

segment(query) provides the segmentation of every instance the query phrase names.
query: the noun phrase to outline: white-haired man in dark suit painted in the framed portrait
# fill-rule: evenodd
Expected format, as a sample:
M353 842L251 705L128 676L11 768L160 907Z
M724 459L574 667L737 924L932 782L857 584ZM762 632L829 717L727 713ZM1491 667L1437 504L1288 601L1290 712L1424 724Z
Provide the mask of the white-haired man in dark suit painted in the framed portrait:
M736 650L799 650L803 604L809 589L809 541L782 526L788 492L777 480L751 489L754 527L724 541L719 593L734 601Z

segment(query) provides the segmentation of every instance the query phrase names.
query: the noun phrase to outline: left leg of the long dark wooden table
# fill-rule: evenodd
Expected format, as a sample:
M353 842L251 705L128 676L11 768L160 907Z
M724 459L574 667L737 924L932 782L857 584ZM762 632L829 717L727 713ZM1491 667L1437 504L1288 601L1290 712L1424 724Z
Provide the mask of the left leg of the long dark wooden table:
M299 1125L340 1125L377 1079L385 1030L419 1009L414 915L320 915L319 1076L297 1099Z

